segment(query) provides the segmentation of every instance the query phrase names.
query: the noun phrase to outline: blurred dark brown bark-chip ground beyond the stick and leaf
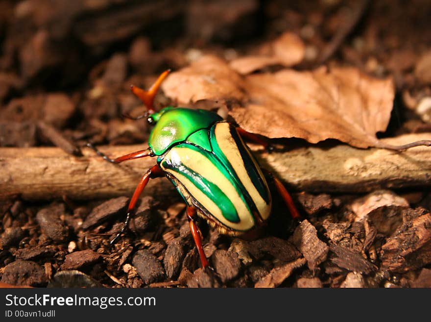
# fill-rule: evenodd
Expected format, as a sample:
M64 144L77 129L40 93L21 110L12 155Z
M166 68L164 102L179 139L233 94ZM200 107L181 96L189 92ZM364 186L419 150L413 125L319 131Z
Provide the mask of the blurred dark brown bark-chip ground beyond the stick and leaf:
M140 106L130 84L206 53L262 52L286 31L305 43L295 69L393 75L398 103L414 110L430 95L430 16L427 0L1 0L0 146L51 145L41 121L78 145L141 143L144 122L120 118Z

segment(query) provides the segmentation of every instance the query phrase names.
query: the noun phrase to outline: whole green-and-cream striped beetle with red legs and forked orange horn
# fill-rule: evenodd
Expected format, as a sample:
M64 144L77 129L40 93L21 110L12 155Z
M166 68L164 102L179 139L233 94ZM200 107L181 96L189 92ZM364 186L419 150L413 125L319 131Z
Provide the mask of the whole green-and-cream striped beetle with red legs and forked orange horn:
M209 266L205 256L196 215L204 218L223 234L243 235L261 227L271 212L271 194L263 171L251 154L244 139L269 148L267 141L218 114L203 109L167 106L154 109L154 98L170 70L160 74L148 91L131 86L147 111L134 119L147 118L154 125L148 148L116 159L101 153L91 143L88 147L107 161L120 163L143 157L155 157L156 164L141 178L130 199L124 226L115 241L125 231L139 196L149 179L166 176L187 203L187 218L203 268ZM281 181L270 174L276 189L285 200L293 218L300 218L293 200Z

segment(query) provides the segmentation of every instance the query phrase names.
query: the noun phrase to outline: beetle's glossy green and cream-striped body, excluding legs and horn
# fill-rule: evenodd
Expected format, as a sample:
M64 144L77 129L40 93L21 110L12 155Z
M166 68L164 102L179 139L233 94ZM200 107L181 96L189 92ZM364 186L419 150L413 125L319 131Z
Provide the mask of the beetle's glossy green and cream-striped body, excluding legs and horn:
M165 108L150 147L188 205L222 232L238 234L266 220L271 196L263 173L235 126L215 113Z

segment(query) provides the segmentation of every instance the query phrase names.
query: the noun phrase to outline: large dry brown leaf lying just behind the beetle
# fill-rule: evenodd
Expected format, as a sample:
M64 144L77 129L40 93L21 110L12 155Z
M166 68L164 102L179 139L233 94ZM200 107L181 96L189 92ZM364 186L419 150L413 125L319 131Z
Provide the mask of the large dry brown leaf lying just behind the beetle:
M229 114L239 126L268 138L295 137L310 143L337 139L358 148L391 148L376 133L389 122L393 81L357 68L240 76L222 59L204 56L169 75L162 86L178 104L237 101Z

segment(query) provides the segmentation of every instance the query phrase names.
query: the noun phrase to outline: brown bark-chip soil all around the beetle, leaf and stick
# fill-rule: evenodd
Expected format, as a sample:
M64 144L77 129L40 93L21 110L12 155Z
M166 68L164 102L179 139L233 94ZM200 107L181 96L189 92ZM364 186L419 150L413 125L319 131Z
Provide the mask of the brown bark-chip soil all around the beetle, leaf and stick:
M380 137L430 131L430 1L290 2L105 0L95 6L0 0L0 147L56 146L76 157L88 141L145 149L150 126L122 116L142 112L130 84L148 88L167 68L181 69L205 53L228 61L253 54L286 31L306 46L296 70L341 65L393 77L392 118ZM160 93L157 105L168 103ZM109 288L431 285L430 186L369 195L291 191L301 220L292 220L272 193L273 213L257 239L222 235L199 221L211 266L205 270L186 205L173 189L163 197L144 193L128 232L113 245L130 195L5 198L0 282Z

